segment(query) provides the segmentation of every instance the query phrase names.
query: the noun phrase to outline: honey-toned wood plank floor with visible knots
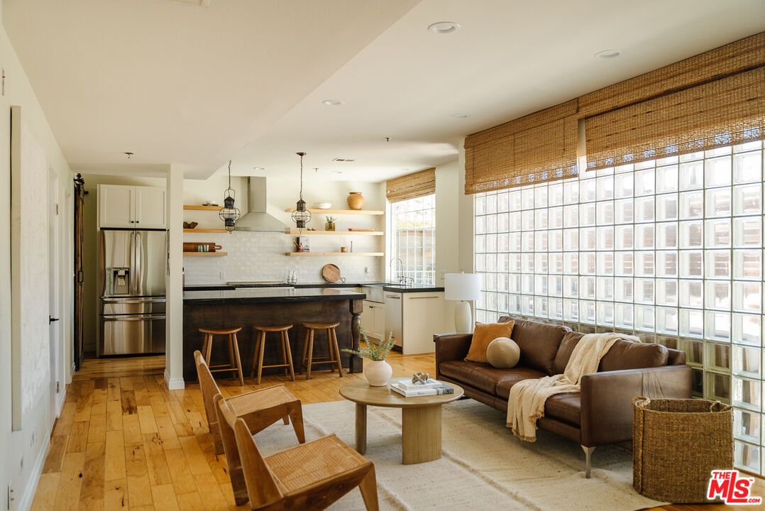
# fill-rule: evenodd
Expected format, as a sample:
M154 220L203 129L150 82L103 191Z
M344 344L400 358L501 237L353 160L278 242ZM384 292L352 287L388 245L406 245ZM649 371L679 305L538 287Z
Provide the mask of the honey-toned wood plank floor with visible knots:
M435 356L391 353L393 376L435 374ZM67 389L50 438L33 510L135 511L249 509L233 501L225 458L216 456L198 385L168 391L164 356L88 359ZM327 371L291 382L264 376L240 387L220 380L223 395L284 382L305 404L340 400L338 389L363 379ZM353 421L353 417L348 418ZM597 466L597 451L594 464ZM765 481L753 492L765 496ZM434 508L438 503L433 503ZM673 505L672 511L752 509L751 506Z

